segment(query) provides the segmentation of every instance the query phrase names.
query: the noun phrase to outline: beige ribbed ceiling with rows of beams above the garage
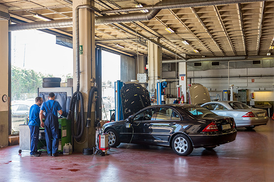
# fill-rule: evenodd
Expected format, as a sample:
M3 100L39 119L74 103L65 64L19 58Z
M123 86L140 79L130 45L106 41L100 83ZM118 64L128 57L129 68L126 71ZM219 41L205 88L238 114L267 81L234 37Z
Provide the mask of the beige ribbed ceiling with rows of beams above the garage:
M95 25L95 41L137 56L137 49L147 54L147 41L161 46L164 59L200 59L222 56L273 56L274 0L94 0L96 19L114 21ZM143 7L136 8L141 3ZM52 21L71 20L71 0L1 0L7 6L11 20L40 22L39 14ZM160 12L151 20L140 19ZM121 23L121 19L128 22ZM131 17L131 18L129 18ZM133 19L134 18L134 19ZM104 20L105 21L105 20ZM124 20L123 20L124 21ZM61 22L61 21L60 21ZM11 25L14 26L14 25ZM175 32L168 33L170 27ZM47 28L48 32L72 36L72 27ZM136 32L137 31L137 32ZM137 33L137 40L136 40ZM186 40L189 45L184 45ZM116 44L125 48L117 47ZM138 46L136 46L136 44ZM193 49L199 52L195 53ZM182 56L183 55L183 56Z

